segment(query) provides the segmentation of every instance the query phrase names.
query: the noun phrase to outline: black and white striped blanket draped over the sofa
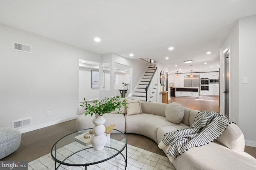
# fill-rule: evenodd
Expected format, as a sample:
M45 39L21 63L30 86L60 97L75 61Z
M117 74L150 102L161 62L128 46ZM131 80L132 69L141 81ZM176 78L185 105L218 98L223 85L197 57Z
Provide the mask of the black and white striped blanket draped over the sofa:
M224 115L214 111L198 112L192 125L186 129L166 133L158 147L164 149L169 145L166 152L176 158L191 147L199 147L217 139L233 123Z

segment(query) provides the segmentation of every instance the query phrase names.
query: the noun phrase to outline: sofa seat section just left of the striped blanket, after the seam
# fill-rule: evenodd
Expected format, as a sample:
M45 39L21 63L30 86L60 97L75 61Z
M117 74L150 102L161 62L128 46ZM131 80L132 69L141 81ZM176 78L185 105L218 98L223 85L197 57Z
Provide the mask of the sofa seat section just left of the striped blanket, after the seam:
M183 124L183 123L180 123L179 125L173 125L173 126L164 126L164 127L159 127L157 129L157 143L160 143L164 137L164 135L166 133L169 133L169 132L172 132L172 131L177 131L177 130L180 130L180 129L185 129L187 128L188 126Z

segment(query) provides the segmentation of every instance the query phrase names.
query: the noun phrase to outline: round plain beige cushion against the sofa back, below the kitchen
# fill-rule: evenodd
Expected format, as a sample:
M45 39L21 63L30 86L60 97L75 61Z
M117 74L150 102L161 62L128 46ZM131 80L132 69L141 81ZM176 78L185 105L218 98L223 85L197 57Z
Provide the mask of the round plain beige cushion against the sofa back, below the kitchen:
M184 117L184 107L176 102L168 104L165 109L165 117L172 123L180 123Z

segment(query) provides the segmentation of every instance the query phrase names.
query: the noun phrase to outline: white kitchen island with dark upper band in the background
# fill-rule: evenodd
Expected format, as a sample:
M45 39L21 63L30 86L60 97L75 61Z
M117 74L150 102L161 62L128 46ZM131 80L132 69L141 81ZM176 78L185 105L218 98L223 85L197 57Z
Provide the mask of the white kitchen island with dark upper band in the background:
M176 87L175 96L198 98L199 87Z

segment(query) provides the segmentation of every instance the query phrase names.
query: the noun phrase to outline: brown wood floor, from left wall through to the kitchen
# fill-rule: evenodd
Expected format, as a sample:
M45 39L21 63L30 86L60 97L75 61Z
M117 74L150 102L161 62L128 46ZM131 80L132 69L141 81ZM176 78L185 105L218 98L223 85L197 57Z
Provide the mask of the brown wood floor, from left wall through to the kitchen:
M195 98L172 97L169 103L179 102L183 106L192 109L219 112L220 108L218 106L218 97L200 97L199 99L202 100L196 100ZM28 162L35 160L50 153L52 146L58 139L74 131L76 131L75 119L28 133L23 133L18 150L9 156L6 156L2 160L25 160ZM126 136L129 145L165 156L164 152L158 148L157 144L152 139L136 134L126 134ZM256 158L256 148L246 147L245 151Z

